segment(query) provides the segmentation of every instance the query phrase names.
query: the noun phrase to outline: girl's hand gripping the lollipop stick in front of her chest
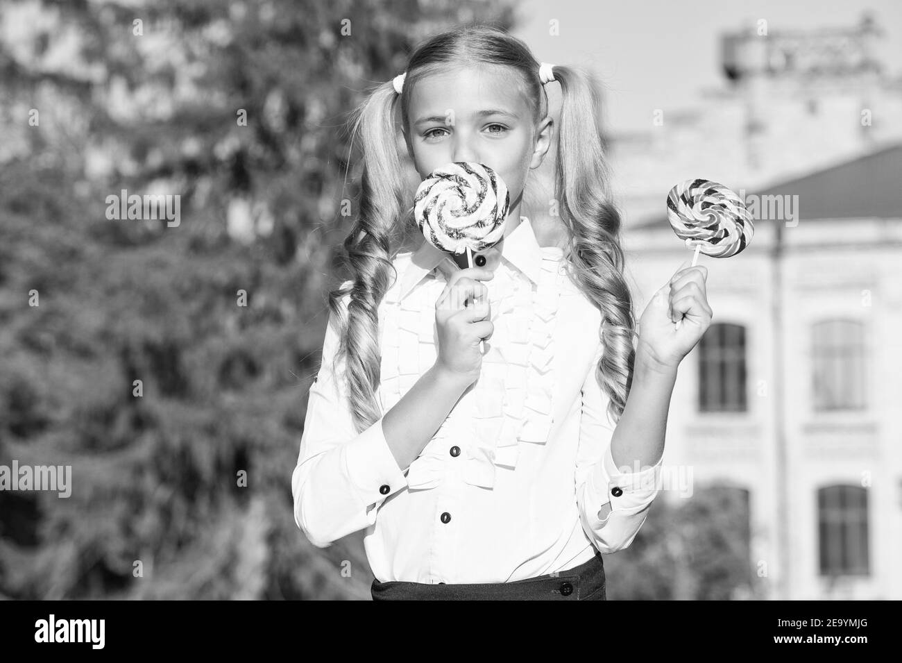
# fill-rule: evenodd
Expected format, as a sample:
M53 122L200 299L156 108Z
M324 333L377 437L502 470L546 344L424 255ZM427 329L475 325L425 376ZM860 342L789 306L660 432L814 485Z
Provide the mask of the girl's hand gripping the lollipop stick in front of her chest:
M489 289L480 281L494 278L494 272L471 267L454 272L436 300L440 370L471 385L483 368L479 341L494 332ZM474 304L473 299L479 303Z

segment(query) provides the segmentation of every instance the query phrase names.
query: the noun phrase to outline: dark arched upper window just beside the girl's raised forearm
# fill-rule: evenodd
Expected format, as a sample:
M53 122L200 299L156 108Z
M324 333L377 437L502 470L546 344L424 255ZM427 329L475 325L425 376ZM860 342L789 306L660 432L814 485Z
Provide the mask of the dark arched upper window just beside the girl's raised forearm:
M698 344L698 409L746 410L745 327L714 324Z

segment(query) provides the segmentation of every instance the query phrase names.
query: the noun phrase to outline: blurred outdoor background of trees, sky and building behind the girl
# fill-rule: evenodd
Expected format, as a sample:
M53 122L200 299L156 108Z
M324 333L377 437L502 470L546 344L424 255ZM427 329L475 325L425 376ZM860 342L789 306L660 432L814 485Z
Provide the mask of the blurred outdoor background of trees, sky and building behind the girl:
M894 0L0 2L0 597L369 600L363 532L315 548L291 510L346 123L474 21L602 80L637 312L691 257L672 186L755 218L701 256L713 325L609 599L902 598ZM69 496L10 483L24 465L68 466Z

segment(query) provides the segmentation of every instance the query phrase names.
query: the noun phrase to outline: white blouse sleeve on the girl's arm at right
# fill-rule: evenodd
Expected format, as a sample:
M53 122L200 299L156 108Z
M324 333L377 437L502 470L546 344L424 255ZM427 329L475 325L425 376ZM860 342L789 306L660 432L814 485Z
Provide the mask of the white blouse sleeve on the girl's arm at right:
M658 494L658 463L641 472L621 472L614 464L611 440L615 424L607 414L607 395L595 379L594 364L583 383L579 447L576 457L576 503L585 533L602 553L627 548L649 515L649 506ZM599 512L610 502L611 511Z

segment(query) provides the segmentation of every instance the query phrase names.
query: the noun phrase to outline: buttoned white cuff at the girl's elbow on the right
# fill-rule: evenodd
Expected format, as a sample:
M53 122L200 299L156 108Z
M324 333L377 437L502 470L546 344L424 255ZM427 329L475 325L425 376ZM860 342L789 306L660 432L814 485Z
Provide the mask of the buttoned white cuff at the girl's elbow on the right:
M614 464L611 445L604 452L602 461L596 463L587 479L586 499L593 505L594 526L603 527L616 511L634 514L642 511L658 495L658 483L664 456L640 472L621 472ZM627 469L625 466L622 469ZM606 497L603 497L605 495ZM603 504L611 502L611 512L604 520L598 519Z

